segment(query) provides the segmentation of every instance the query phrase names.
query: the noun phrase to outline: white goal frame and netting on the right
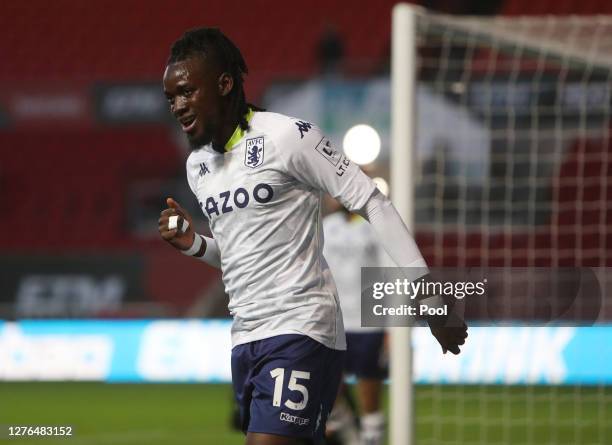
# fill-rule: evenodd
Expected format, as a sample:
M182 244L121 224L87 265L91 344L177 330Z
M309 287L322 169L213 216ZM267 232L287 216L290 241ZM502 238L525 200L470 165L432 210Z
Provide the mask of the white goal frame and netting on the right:
M428 264L588 267L601 298L587 323L480 320L467 357L425 366L417 352L413 404L399 400L403 368L392 364L390 443L612 443L612 362L601 363L612 354L612 17L460 17L400 5L393 27L392 198ZM564 340L538 343L542 335ZM391 360L408 363L402 354L392 347ZM436 367L454 377L432 377ZM401 433L406 424L413 430Z

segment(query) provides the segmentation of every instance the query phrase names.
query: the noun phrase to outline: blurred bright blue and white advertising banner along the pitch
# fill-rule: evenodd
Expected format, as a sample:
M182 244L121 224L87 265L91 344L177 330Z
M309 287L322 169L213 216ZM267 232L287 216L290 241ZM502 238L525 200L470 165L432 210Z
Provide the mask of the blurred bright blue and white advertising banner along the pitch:
M226 320L0 322L0 380L229 382ZM417 383L612 384L612 326L472 327L458 356L415 328Z

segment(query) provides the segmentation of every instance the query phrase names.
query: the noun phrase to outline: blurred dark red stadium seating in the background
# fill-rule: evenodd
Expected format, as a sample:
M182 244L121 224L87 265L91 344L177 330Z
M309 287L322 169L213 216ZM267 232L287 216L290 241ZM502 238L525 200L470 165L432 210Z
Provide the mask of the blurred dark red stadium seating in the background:
M121 8L109 8L102 0L3 3L0 25L6 38L0 39L0 125L4 125L0 127L0 199L9 203L11 211L0 221L2 251L146 247L160 255L163 263L164 255L173 252L158 251L164 246L157 238L143 240L126 231L126 195L133 182L181 177L183 152L165 123L112 125L96 121L91 104L96 86L160 82L170 42L185 29L202 24L222 26L242 48L252 73L247 94L254 101L275 80L308 79L318 72L315 48L328 23L334 23L344 40L348 75L374 73L388 56L394 3L380 0L372 8L367 0L355 0L347 8L344 2L324 0L299 5L253 0L248 14L239 0L186 0L180 7L150 7L148 2L128 0ZM355 14L362 10L367 13ZM612 4L603 0L507 0L502 7L506 15L606 12L612 13ZM259 32L263 29L274 29L274 33ZM489 56L475 54L474 73ZM496 63L503 74L502 56L498 57ZM83 115L68 123L23 123L11 122L8 113L3 123L7 97L21 88L51 92L72 88L87 98ZM609 141L577 140L572 150L575 156L567 156L558 175L595 183L598 174L610 175L610 165L597 170L597 166L582 166L578 161L583 154L597 157L602 150L609 152ZM566 209L552 215L553 230L530 235L444 233L437 235L444 237L442 244L434 235L419 232L419 244L432 265L454 266L460 256L466 265L479 264L485 245L491 252L491 265L503 264L503 257L496 259L496 252L508 248L526 251L528 245L542 253L536 258L539 265L549 265L551 258L546 252L558 243L567 247L564 264L601 265L601 258L597 260L592 253L601 242L610 243L612 234L607 233L606 240L596 239L592 233L585 235L583 255L575 256L578 238L564 233L573 230L578 221L583 225L609 221L611 211L573 209L577 191L571 186L558 186L553 193L558 204L553 207ZM583 199L588 199L588 194L595 200L597 193L603 192L592 187L585 193ZM601 212L607 212L605 218ZM443 245L443 252L434 245ZM606 264L610 264L612 254L607 255ZM514 266L526 264L525 255L513 257Z

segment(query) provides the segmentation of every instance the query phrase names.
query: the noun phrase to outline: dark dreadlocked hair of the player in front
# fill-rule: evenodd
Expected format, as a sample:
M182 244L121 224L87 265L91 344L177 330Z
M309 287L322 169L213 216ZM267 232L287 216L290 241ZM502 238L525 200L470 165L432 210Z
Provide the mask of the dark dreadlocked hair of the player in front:
M246 101L243 76L248 74L249 69L240 50L217 28L190 29L172 44L168 65L198 55L205 57L212 55L221 71L228 73L234 79L234 87L229 93L231 116L238 122L240 128L247 130L249 124L245 116L249 108L256 111L263 110Z

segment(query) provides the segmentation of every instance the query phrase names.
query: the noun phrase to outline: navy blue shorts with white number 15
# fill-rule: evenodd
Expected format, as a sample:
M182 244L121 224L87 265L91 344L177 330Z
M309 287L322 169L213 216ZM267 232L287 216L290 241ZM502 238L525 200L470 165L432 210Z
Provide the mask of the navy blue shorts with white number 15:
M322 441L342 377L344 351L304 335L279 335L232 349L242 430Z

